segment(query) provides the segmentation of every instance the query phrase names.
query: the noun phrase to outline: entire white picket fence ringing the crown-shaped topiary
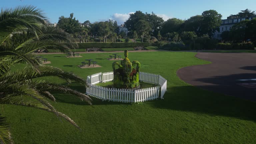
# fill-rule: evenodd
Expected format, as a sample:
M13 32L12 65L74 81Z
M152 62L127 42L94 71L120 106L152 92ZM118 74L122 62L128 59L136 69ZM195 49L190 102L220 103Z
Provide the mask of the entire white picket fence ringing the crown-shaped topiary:
M109 82L113 80L113 72L97 73L87 77L89 87L86 88L86 94L109 101L117 102L144 102L159 98L159 86L146 89L115 89L97 86L100 82ZM140 72L139 80L142 82L158 84L161 87L161 99L163 98L167 80L160 75Z

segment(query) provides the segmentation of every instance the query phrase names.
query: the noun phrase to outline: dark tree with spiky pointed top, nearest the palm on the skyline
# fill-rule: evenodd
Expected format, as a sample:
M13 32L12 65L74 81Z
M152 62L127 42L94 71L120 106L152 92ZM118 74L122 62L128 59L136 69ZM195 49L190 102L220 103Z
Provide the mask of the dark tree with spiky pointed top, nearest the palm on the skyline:
M57 27L63 29L67 33L73 34L76 29L79 29L80 23L76 18L74 17L74 14L71 13L69 18L66 18L64 16L59 17L59 21L57 23Z

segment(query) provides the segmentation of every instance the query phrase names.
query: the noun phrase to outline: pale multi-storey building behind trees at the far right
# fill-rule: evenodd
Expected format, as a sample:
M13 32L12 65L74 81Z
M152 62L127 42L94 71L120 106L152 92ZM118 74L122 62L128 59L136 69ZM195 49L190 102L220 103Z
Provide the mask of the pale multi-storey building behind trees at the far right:
M236 16L230 16L230 17L227 17L227 19L224 19L224 20L221 20L221 25L220 25L220 32L216 31L214 33L214 36L213 38L215 39L218 39L218 40L221 40L221 34L222 32L224 31L230 31L230 28L236 24L236 23L239 23L243 20L252 20L256 18L256 16L250 16L250 17L236 17Z

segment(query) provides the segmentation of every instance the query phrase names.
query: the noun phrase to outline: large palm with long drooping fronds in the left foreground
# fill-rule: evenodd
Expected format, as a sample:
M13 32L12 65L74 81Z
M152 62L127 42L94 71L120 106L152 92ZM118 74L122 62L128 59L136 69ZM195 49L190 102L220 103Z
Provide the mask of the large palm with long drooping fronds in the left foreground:
M50 93L57 90L76 95L91 104L91 99L66 86L34 78L56 76L67 83L86 81L59 68L42 65L34 54L38 49L56 49L63 53L76 48L66 34L49 27L49 20L40 9L33 6L18 6L14 9L2 9L0 12L0 104L12 104L39 108L63 117L76 127L78 125L65 114L58 112L46 99L55 101ZM58 43L62 41L63 43ZM11 65L25 62L26 67L12 72ZM0 143L11 144L11 134L5 117L0 115Z

